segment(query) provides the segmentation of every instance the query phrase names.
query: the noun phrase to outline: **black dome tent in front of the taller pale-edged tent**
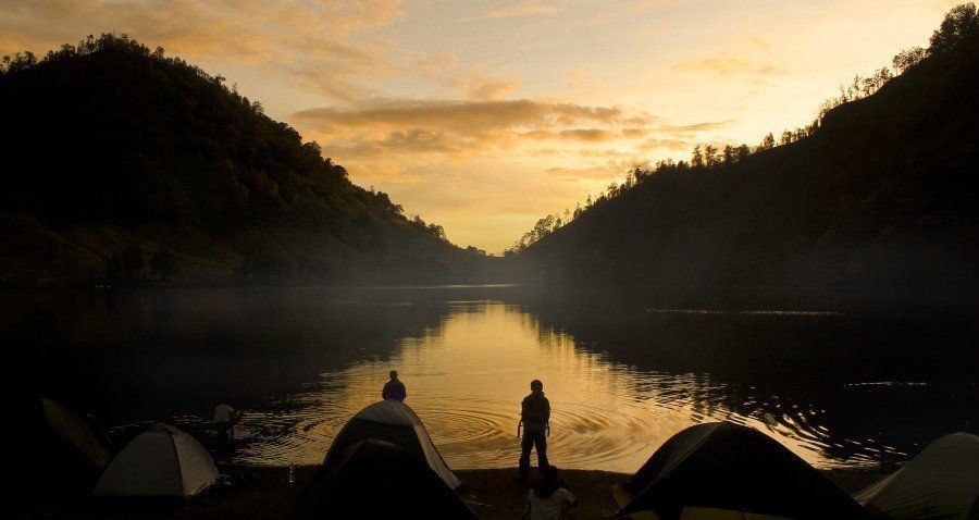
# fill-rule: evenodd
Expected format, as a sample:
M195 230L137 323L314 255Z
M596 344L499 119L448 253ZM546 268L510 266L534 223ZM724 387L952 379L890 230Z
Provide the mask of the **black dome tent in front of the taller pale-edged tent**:
M400 446L361 441L303 490L297 518L473 519L474 512L429 466Z

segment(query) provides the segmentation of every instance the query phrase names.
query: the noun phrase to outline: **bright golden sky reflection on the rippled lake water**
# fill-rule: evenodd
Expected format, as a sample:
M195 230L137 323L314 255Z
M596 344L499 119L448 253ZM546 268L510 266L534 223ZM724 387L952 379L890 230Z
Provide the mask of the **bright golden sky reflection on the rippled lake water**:
M244 428L253 439L239 459L319 462L346 420L376 400L391 368L454 468L515 466L519 403L532 377L545 382L554 408L549 454L563 467L634 471L673 433L722 419L763 429L821 467L868 463L887 449L834 436L813 406L745 397L706 374L616 363L518 306L454 302L437 326L401 339L389 359L321 374L293 397L288 413L281 404L251 413ZM846 460L828 453L846 444L866 449Z

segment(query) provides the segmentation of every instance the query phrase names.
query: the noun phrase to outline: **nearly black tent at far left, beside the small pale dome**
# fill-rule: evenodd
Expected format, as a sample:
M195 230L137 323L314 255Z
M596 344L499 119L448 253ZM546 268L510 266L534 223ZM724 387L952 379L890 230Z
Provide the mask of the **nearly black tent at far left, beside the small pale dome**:
M112 451L104 433L88 418L53 399L23 404L27 424L17 430L9 457L20 476L17 496L30 498L87 494Z

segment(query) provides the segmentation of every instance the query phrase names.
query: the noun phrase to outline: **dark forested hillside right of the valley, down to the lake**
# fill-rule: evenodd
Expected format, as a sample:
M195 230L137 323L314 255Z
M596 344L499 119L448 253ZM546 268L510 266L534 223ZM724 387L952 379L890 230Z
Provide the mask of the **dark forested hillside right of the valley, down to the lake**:
M902 61L903 60L903 61ZM636 170L516 262L531 278L650 287L979 287L979 30L953 10L903 73L811 127ZM767 146L766 146L767 145ZM716 147L711 147L716 150ZM732 152L733 151L733 152ZM730 157L729 157L730 156Z

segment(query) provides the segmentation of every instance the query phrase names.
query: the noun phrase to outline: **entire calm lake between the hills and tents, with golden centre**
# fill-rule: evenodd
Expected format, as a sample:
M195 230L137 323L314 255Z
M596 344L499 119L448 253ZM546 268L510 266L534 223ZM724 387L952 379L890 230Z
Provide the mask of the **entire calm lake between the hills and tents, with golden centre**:
M810 463L901 461L976 424L976 320L757 295L516 286L0 293L18 384L113 432L245 411L234 461L319 463L397 369L451 468L516 465L530 380L559 467L635 471L730 420Z

